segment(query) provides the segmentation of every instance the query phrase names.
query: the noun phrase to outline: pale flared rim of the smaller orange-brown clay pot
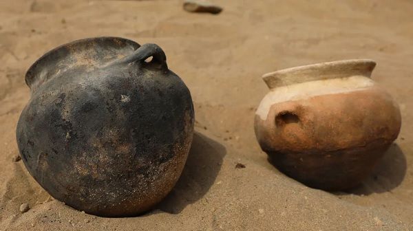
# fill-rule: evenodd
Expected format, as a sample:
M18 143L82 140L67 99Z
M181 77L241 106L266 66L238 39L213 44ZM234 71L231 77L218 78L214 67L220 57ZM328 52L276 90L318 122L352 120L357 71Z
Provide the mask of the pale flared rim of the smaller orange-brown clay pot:
M370 78L375 66L376 62L371 59L349 59L281 69L264 74L262 79L270 89L273 89L332 78L346 78L350 76Z

